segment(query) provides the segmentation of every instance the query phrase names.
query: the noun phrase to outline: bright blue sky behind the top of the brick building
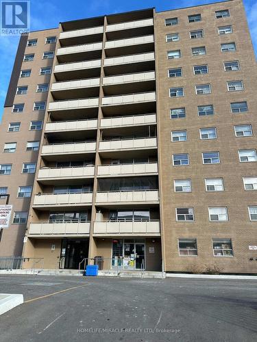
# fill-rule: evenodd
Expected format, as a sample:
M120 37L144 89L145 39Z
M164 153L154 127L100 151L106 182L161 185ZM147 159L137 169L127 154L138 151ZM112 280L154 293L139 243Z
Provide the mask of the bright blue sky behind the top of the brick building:
M58 27L59 22L119 12L156 8L157 12L204 5L215 0L31 0L31 31ZM257 55L257 0L243 0ZM0 36L0 120L12 66L19 44L17 36Z

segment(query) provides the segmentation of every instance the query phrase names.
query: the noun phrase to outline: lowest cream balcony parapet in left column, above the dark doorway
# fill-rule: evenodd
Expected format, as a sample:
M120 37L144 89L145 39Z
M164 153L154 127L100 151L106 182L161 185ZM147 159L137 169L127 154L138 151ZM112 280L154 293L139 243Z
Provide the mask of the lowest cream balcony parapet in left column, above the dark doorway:
M29 237L89 236L90 222L32 222Z

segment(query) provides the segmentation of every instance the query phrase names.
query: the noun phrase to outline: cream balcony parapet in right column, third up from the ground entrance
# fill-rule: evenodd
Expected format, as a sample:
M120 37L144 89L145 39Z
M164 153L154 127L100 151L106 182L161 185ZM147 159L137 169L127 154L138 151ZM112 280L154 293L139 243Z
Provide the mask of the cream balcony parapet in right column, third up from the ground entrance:
M132 176L158 174L158 163L134 163L98 166L97 176Z

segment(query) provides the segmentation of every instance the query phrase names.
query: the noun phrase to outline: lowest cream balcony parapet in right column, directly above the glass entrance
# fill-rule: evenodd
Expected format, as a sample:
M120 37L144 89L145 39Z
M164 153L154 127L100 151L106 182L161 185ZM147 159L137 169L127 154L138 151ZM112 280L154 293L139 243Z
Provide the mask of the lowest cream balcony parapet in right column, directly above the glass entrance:
M93 235L105 237L112 235L160 236L160 221L96 221Z

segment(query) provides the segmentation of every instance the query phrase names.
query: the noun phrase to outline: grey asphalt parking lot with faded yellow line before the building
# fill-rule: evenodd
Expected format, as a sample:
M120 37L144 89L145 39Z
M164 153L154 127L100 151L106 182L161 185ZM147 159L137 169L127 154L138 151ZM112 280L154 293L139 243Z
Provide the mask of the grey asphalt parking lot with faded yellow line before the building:
M257 281L0 276L0 341L257 341Z

